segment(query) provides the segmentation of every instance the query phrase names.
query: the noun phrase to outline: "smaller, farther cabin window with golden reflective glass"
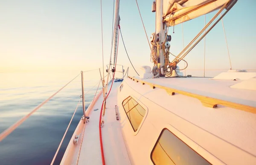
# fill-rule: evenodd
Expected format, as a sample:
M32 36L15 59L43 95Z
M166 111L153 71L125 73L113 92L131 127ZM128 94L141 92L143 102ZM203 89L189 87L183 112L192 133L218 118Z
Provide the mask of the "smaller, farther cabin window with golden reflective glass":
M146 110L131 96L122 102L122 106L125 109L125 113L131 123L134 132L136 132L143 120L143 117L145 116Z

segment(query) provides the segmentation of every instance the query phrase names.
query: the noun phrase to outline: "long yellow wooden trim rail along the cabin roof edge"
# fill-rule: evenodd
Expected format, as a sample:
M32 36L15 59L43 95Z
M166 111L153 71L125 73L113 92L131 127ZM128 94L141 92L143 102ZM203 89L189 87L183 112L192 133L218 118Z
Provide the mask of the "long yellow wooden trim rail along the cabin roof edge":
M128 76L128 78L131 78L131 77ZM161 85L149 83L147 81L143 81L143 80L140 80L140 79L137 79L137 78L131 78L131 79L133 81L136 80L136 82L140 82L143 85L144 84L148 84L153 89L155 89L155 88L164 89L164 90L166 90L167 93L169 93L169 95L172 95L172 96L174 96L176 93L179 93L181 95L197 98L198 100L201 101L201 103L205 107L216 108L216 107L218 107L218 105L223 105L225 107L230 107L230 108L234 108L234 109L238 109L238 110L243 110L243 111L246 111L246 112L250 112L250 113L255 113L256 114L256 107L251 107L251 106L244 105L244 104L233 103L233 102L230 102L230 101L224 101L224 100L220 100L220 99L217 99L217 98L201 96L201 95L198 95L198 94L189 93L189 92L185 92L185 91L182 91L182 90L176 90L176 89L173 89L173 88L164 87L164 86L161 86Z

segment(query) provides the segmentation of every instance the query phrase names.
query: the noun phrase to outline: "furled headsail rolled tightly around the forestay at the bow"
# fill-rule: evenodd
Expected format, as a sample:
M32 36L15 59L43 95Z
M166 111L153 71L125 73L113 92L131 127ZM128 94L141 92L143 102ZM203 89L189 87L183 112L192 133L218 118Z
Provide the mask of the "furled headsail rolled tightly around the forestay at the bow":
M114 46L114 53L113 53L113 64L115 66L116 63L116 48L117 48L117 38L118 38L118 26L119 26L119 0L116 0L116 11L115 11L115 26L114 26L114 41L113 41L113 46Z

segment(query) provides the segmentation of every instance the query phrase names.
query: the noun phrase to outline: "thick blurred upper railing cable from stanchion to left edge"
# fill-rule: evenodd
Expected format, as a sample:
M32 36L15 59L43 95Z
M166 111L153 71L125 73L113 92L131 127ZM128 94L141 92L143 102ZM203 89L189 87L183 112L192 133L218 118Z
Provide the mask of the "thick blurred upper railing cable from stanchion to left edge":
M81 73L79 73L80 75ZM66 87L68 84L70 84L73 80L75 80L79 75L77 75L75 78L73 78L71 81L69 81L66 85L64 85L64 87ZM39 108L41 108L45 103L47 103L53 96L55 96L57 93L59 93L64 87L62 87L61 89L59 89L57 92L55 92L52 96L50 96L49 98L47 98L45 101L43 101L41 104L39 104L34 110L32 110L29 114L27 114L26 116L24 116L23 118L21 118L19 121L17 121L15 124L13 124L11 127L7 128L5 131L3 131L0 134L0 142L6 138L6 136L8 136L10 133L12 133L12 131L14 131L18 126L20 126L20 124L22 124L24 121L26 121L26 119L29 118L29 116L31 116L33 113L35 113Z

